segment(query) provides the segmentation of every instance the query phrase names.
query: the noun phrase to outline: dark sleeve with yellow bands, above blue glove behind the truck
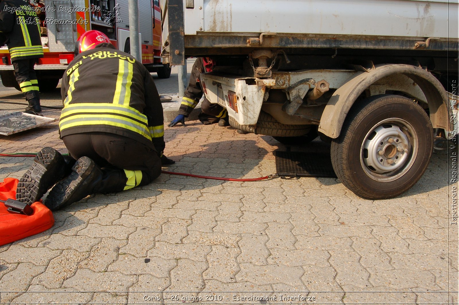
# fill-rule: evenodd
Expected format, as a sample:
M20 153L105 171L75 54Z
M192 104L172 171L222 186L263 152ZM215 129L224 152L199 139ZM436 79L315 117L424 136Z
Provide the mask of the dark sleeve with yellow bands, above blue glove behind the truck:
M185 89L185 93L180 104L179 114L183 114L188 117L198 105L199 100L202 98L202 85L201 85L201 73L204 71L204 63L202 58L196 59L193 67L191 68L190 83Z

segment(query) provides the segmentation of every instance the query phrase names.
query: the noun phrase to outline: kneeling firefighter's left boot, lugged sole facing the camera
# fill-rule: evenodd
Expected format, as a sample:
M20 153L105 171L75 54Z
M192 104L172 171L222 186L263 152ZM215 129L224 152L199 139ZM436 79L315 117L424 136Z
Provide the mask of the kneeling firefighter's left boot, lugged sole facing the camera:
M50 187L63 177L64 157L52 147L45 147L35 156L32 164L19 179L16 200L29 205L41 199Z

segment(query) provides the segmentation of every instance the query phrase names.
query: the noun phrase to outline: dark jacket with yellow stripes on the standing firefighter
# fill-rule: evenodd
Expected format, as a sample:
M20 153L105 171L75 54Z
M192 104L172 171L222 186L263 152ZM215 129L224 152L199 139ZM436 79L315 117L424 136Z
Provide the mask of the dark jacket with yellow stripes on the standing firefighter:
M0 32L6 36L11 61L43 57L39 18L28 2L0 2Z

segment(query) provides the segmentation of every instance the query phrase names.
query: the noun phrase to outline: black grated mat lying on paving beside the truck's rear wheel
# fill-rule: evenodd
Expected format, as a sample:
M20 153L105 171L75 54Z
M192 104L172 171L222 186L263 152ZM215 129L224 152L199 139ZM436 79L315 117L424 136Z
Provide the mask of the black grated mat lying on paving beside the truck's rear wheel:
M274 150L276 172L285 177L336 178L330 155Z

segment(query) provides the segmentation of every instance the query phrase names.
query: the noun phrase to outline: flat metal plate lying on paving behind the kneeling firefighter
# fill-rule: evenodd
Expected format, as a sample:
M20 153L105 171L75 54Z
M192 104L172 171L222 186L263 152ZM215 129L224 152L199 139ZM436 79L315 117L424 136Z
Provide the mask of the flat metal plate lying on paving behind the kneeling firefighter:
M37 128L57 120L20 111L0 111L0 135L9 136L13 133Z

